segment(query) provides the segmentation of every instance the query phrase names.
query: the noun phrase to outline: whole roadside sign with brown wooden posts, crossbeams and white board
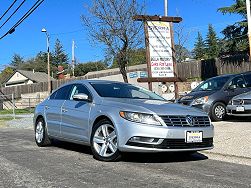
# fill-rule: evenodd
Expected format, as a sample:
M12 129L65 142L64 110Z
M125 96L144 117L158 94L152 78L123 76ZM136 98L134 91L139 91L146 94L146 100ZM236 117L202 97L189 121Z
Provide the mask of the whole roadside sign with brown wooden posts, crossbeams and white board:
M178 87L176 82L185 79L178 78L176 73L172 23L179 23L182 18L137 15L133 19L144 22L148 68L148 78L139 78L138 81L148 82L149 90L152 90L152 82L174 81L175 98L177 98Z

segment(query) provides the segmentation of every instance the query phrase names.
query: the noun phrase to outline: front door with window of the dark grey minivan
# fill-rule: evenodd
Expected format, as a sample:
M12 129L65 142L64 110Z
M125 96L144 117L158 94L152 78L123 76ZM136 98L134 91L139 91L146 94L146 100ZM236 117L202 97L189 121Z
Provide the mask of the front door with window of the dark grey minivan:
M229 82L227 87L227 100L231 100L234 96L248 91L246 82L242 75L234 77L231 82Z

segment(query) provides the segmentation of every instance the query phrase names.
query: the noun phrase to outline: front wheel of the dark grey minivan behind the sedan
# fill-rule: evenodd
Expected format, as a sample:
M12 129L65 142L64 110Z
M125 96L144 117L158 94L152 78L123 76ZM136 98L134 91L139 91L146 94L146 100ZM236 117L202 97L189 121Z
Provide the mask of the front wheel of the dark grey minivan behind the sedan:
M216 102L212 106L210 117L212 121L222 121L226 117L226 105L222 102Z

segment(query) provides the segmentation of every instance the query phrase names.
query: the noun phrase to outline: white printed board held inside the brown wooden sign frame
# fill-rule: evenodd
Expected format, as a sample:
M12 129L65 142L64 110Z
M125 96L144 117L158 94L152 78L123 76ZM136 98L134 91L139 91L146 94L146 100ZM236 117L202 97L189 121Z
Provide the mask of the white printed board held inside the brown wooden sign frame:
M147 21L147 28L152 77L174 77L170 23Z

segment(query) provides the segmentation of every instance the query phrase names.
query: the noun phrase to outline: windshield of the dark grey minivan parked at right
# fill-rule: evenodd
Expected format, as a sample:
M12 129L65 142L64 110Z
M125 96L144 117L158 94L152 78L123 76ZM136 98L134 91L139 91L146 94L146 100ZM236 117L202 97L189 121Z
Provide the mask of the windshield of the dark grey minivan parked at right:
M220 90L226 82L229 80L230 76L216 77L202 82L193 91L214 91Z

